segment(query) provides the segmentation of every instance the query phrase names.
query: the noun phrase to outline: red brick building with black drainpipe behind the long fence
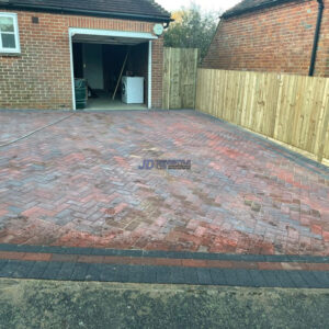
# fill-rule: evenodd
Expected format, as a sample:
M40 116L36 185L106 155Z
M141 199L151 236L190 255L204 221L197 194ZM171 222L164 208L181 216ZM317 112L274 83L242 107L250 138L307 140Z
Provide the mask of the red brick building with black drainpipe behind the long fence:
M203 67L328 77L329 2L243 0L223 14Z

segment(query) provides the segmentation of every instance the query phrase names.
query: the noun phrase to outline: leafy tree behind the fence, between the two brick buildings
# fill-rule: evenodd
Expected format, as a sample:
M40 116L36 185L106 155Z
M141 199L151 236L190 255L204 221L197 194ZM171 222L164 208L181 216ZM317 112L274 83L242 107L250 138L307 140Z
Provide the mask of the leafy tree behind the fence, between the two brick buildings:
M218 24L219 12L202 12L192 3L172 13L172 22L164 33L164 46L178 48L200 48L201 59L207 53Z

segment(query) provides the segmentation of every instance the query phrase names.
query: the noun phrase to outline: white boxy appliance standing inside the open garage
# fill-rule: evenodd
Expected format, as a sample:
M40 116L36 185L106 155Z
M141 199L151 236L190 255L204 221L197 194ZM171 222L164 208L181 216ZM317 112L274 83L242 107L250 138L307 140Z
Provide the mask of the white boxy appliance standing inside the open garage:
M122 101L126 104L144 103L143 77L122 77Z

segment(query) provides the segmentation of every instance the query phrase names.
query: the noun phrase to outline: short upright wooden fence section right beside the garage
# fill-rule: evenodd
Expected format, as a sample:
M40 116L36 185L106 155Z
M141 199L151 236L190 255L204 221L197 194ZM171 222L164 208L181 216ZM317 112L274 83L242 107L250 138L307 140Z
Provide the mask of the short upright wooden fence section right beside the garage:
M164 48L163 109L194 109L198 49Z

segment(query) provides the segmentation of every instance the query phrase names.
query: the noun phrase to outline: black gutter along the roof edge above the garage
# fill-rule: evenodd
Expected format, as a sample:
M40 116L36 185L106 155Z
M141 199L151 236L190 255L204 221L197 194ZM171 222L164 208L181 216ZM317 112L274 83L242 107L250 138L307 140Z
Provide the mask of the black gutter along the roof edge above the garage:
M69 9L69 8L50 7L50 5L18 4L18 3L8 3L8 2L4 2L3 4L0 1L0 8L3 7L5 9L83 14L83 15L93 15L93 16L113 18L113 19L138 20L138 21L147 21L147 22L161 22L161 23L168 23L168 24L173 21L170 18L158 16L158 15L154 16L154 15L144 15L144 14L103 12L103 11L98 11L98 10Z

